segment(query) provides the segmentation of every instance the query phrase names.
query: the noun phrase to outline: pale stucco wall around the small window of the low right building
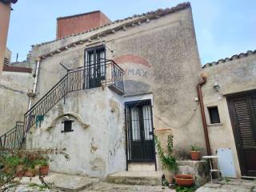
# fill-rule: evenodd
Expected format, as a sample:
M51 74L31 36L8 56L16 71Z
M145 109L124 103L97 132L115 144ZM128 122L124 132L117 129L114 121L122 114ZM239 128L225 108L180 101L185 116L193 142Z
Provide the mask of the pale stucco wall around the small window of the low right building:
M207 123L209 124L211 150L215 153L218 148L230 148L237 176L240 177L238 155L225 95L256 89L256 54L249 54L242 58L234 58L232 61L208 66L203 71L209 75L202 92ZM219 91L214 90L215 82L220 86ZM218 106L220 124L210 125L210 117L207 110L209 106Z

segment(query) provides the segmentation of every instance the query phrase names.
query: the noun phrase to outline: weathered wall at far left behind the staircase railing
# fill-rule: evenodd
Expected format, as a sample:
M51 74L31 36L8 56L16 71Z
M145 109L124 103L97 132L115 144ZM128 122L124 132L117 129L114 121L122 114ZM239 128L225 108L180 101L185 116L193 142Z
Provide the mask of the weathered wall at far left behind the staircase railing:
M0 135L14 128L15 122L24 121L34 78L30 73L6 72L0 76Z

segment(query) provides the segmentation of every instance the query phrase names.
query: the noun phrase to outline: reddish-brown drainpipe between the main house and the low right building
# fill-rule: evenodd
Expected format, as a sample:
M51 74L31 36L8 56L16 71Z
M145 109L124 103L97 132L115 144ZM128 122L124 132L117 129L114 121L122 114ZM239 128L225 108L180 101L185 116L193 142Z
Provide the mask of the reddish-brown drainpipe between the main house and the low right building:
M206 150L207 150L207 154L211 155L209 134L208 134L207 123L206 123L205 106L202 101L202 90L201 90L202 86L206 83L207 75L202 74L201 76L202 76L202 79L200 80L200 82L198 82L198 86L197 86L198 100L199 100L201 115L202 115L202 126L203 126L203 130L204 130L204 134L205 134Z

